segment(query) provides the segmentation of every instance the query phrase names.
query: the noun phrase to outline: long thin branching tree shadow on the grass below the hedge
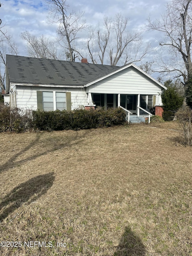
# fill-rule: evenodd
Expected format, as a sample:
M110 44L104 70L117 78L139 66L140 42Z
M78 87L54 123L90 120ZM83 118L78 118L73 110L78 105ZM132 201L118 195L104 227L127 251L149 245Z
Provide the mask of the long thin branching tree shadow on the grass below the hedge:
M43 137L44 132L38 133L36 135L35 140L33 140L31 143L29 143L26 147L24 147L22 150L17 152L15 155L13 155L11 158L9 158L3 165L0 166L0 173L9 170L10 168L13 168L15 166L18 166L19 164L23 164L27 161L31 161L41 155L46 155L47 153L53 152L58 149L67 149L70 148L73 145L78 145L79 143L82 143L84 138L87 137L88 133L91 132L87 131L86 133L79 134L78 131L74 131L73 136L68 137L65 142L60 142L59 140L55 138L54 143L52 141L49 141L49 136L47 135L46 139L44 138L41 140L41 137ZM48 133L47 133L48 134ZM41 141L40 141L41 140ZM42 147L42 143L44 143L44 146ZM36 146L40 145L38 148ZM25 154L28 150L34 147L34 151L32 154L29 154L29 157L18 160L17 158Z

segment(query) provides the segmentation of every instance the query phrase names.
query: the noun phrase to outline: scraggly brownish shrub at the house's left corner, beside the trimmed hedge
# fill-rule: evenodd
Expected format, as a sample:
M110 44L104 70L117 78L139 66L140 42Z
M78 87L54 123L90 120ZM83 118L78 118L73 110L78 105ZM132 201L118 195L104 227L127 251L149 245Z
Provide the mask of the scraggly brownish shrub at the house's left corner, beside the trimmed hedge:
M0 104L0 132L25 132L33 127L30 110L11 109Z

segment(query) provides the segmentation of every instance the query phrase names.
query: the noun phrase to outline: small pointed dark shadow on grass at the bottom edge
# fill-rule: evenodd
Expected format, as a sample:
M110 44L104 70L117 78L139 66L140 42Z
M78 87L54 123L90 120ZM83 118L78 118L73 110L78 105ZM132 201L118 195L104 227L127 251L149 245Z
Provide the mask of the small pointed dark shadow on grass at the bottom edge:
M121 242L113 256L145 256L146 249L141 239L135 235L131 228L126 227Z

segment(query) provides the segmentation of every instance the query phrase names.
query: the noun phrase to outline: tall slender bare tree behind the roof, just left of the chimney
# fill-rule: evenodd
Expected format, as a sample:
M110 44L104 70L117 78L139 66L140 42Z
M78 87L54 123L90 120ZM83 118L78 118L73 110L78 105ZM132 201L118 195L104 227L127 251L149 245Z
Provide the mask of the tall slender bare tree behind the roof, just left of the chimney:
M81 56L77 49L79 32L87 27L83 19L84 12L69 12L67 0L46 0L46 2L49 5L49 22L59 23L57 33L60 46L64 47L68 59L74 62L79 55Z

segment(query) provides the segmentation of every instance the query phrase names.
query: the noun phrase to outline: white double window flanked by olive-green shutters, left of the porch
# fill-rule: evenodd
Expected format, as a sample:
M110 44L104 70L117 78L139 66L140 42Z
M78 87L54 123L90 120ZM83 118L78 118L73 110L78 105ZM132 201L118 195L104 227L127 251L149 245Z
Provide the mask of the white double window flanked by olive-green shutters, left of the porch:
M71 110L71 93L37 91L37 106L45 111Z

